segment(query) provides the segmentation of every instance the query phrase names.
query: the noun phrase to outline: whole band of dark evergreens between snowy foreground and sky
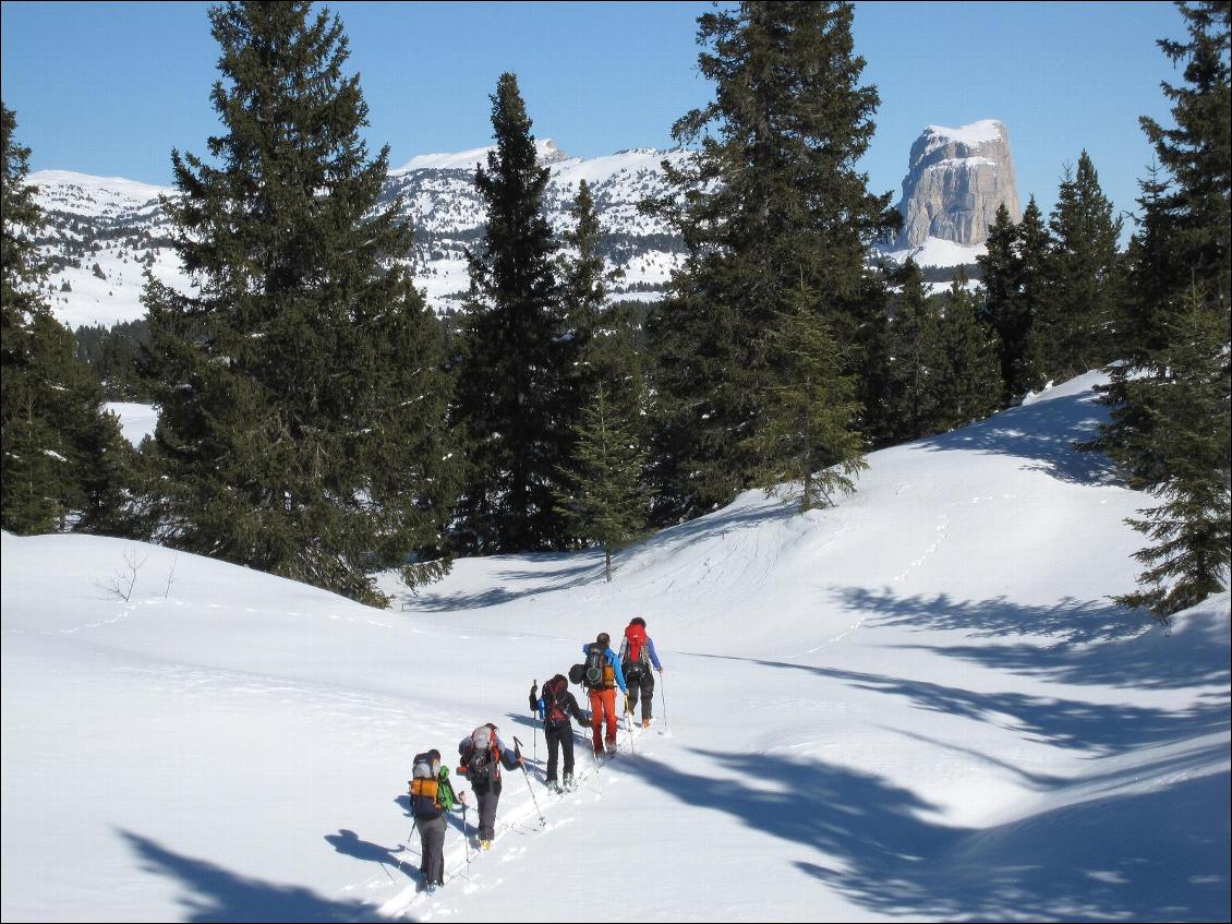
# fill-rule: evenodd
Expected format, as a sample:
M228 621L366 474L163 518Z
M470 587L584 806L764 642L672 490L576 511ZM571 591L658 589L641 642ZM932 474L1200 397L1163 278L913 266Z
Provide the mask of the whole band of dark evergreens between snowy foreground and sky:
M338 17L308 2L216 7L222 133L209 163L172 153L169 203L201 286L147 283L131 381L115 370L137 330L83 335L108 387L161 411L140 452L79 453L107 461L92 469L107 517L78 516L80 490L9 474L51 457L10 403L10 318L22 331L54 322L25 285L28 250L10 293L10 239L25 246L18 225L37 214L9 208L23 160L6 121L5 527L48 529L25 513L41 496L62 527L106 522L376 604L373 572L400 567L414 584L457 554L599 546L610 578L612 551L652 527L750 487L825 505L855 489L870 447L1127 359L1098 446L1135 484L1183 498L1151 521L1163 564L1146 582L1205 575L1200 590L1127 601L1167 612L1227 569L1226 439L1212 447L1228 416L1228 150L1226 107L1210 103L1227 99L1227 4L1181 12L1191 42L1163 43L1191 63L1165 89L1180 128L1146 124L1167 172L1143 185L1127 254L1083 153L1047 221L1034 201L1018 224L998 217L979 286L958 270L929 297L914 264L887 275L872 246L901 217L856 168L880 100L861 84L853 7L745 2L699 18L715 99L675 123L695 154L665 164L667 191L642 205L683 241L665 297L615 298L605 257L622 241L586 184L568 233L552 232L548 171L506 73L476 175L487 221L467 241L469 290L437 319L399 260L414 230L400 200L381 198L388 149L370 156L360 137L367 107ZM76 400L97 402L92 387ZM94 409L96 428L113 425ZM27 441L12 456L10 432ZM1199 471L1201 487L1184 480ZM1164 530L1178 516L1204 525L1177 540Z

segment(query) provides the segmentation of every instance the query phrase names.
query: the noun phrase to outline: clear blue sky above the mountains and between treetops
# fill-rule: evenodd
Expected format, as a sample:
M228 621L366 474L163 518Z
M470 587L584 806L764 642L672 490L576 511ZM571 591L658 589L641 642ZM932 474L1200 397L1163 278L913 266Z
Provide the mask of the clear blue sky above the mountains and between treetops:
M217 44L203 2L4 2L2 95L34 170L170 181L170 150L205 153ZM710 99L700 2L335 2L391 166L489 143L496 76L519 76L535 133L569 154L669 147ZM1151 161L1137 118L1168 121L1154 41L1184 34L1170 2L859 2L855 46L881 94L862 163L897 195L930 123L1000 118L1024 205L1047 211L1087 149L1119 208Z

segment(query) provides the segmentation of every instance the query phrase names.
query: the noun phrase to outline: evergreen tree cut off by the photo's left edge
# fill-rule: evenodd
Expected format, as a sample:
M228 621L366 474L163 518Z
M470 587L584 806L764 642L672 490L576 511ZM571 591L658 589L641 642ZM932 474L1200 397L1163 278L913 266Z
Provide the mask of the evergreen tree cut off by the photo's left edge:
M0 522L14 532L123 526L131 451L102 389L76 359L73 334L42 299L44 270L33 234L43 225L26 184L30 149L17 144L17 117L0 103ZM70 522L71 520L71 522Z

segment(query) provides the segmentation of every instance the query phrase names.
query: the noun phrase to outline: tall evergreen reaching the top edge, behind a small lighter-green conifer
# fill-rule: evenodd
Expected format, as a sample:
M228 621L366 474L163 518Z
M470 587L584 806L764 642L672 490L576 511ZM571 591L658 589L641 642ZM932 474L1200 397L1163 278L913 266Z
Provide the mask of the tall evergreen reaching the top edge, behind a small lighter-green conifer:
M660 521L750 483L764 403L786 367L768 331L795 314L793 291L814 293L840 340L864 319L867 250L901 218L856 169L878 96L859 83L851 17L850 4L748 1L699 18L715 100L674 126L695 156L665 164L671 191L648 203L689 251L648 320Z

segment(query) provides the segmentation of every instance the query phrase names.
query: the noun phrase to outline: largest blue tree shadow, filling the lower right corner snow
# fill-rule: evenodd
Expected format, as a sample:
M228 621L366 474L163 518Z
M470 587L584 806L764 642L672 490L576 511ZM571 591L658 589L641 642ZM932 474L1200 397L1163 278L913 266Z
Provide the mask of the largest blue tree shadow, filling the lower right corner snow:
M1226 771L977 830L926 821L934 806L862 771L775 754L696 753L728 772L703 776L652 758L638 758L638 771L697 809L827 854L827 861L795 866L875 913L925 920L1227 917L1227 823L1222 839L1209 837L1212 813L1227 818Z

